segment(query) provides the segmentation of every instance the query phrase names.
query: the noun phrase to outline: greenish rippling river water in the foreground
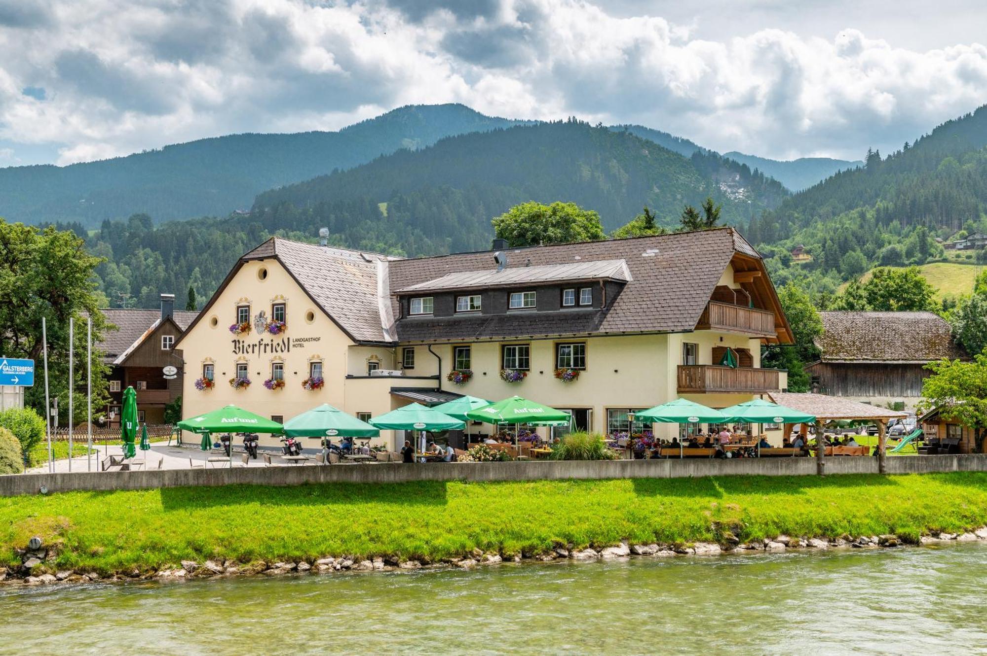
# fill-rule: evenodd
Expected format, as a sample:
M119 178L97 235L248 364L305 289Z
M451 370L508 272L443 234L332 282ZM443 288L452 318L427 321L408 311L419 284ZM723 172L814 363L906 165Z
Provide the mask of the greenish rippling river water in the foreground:
M0 587L3 654L987 653L987 545Z

